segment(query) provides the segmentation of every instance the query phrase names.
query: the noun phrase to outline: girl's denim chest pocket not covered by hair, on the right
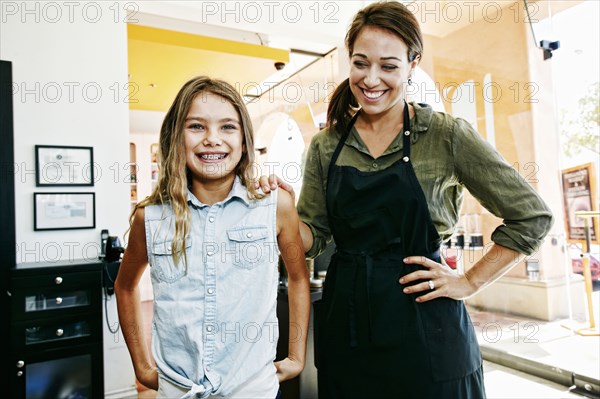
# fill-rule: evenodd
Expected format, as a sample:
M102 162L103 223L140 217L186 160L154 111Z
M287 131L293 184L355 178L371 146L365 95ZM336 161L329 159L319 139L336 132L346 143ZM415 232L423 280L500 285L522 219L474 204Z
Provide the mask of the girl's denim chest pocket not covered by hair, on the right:
M268 242L266 226L246 226L227 230L227 253L231 263L242 269L254 269L273 256L274 243Z

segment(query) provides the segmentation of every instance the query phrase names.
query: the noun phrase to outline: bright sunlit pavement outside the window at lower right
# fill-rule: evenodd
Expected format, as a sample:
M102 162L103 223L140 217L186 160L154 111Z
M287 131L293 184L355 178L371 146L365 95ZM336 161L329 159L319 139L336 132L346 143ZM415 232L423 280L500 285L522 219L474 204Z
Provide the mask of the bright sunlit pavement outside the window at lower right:
M600 292L596 291L596 326L600 323L599 310ZM600 397L600 337L582 336L565 328L588 326L587 322L548 322L473 308L469 314L485 360Z

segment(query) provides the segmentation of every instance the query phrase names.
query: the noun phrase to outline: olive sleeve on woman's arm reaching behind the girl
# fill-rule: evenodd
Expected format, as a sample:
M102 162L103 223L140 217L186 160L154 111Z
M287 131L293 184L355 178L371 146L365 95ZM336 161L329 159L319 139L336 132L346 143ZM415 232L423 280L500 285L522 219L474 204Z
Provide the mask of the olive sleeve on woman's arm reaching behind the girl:
M308 225L313 234L313 245L306 253L307 258L314 258L325 249L331 239L329 220L327 218L327 173L322 165L319 133L313 138L306 154L302 189L298 199L298 215Z

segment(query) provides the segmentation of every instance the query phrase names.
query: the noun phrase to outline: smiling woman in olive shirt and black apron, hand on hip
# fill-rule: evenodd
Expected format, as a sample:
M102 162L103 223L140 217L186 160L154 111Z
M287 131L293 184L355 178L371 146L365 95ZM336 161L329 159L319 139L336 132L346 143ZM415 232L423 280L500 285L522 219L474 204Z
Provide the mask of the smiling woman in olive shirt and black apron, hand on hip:
M552 225L544 201L472 125L407 101L423 42L403 4L361 9L346 34L349 76L306 155L306 255L332 238L336 246L314 304L319 396L358 399L376 387L380 397L484 398L463 299L532 254ZM487 256L458 274L440 247L467 189L503 221Z

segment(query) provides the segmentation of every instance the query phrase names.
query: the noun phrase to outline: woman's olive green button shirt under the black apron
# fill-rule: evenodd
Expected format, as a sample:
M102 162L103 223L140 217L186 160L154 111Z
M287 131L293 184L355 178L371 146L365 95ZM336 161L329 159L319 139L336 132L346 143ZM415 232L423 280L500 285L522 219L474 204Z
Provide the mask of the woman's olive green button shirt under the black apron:
M535 252L553 223L540 196L467 121L435 112L425 104L412 105L410 158L442 240L453 234L466 188L489 212L503 219L492 241L525 255ZM375 159L352 128L336 164L363 172L384 170L402 158L402 137L399 133ZM331 240L327 171L339 140L339 132L325 129L313 137L306 154L298 213L314 237L306 254L309 258L321 253Z

